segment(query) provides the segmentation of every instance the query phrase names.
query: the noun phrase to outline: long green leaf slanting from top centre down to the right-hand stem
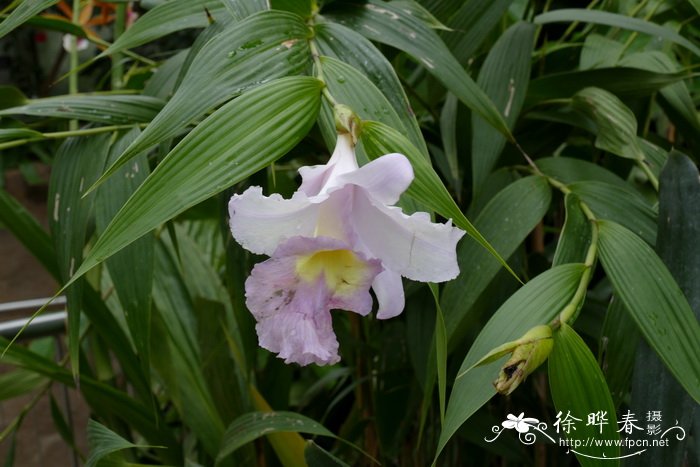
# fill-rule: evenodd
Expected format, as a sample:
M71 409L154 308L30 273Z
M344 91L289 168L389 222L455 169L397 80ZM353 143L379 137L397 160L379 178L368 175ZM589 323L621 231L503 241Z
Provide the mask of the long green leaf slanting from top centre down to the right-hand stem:
M400 3L369 0L359 6L339 7L324 16L412 55L460 101L513 141L513 136L494 103L464 71L440 37Z

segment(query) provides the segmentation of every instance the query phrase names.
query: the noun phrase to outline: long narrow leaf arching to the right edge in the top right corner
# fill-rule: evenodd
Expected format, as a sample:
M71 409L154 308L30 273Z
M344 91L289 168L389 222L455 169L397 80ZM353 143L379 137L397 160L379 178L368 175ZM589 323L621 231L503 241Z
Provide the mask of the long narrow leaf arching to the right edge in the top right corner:
M535 17L536 24L559 22L583 22L627 29L628 31L641 32L654 37L661 37L674 42L700 56L700 48L691 41L665 26L645 21L639 18L609 13L607 11L587 10L583 8L565 8L548 11Z

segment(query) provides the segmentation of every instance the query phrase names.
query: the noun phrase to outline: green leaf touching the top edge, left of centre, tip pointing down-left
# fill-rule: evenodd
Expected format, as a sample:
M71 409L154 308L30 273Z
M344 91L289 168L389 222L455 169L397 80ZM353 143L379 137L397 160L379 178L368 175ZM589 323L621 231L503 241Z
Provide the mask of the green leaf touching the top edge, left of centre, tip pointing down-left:
M209 24L207 11L214 20L228 14L221 0L170 0L161 3L139 17L101 55L131 49L182 29L204 28Z

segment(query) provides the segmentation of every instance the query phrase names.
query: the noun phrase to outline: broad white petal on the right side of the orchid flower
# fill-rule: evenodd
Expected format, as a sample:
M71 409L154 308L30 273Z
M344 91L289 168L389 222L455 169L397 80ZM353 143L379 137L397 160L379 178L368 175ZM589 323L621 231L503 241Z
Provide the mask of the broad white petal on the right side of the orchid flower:
M358 237L386 269L421 282L444 282L459 274L456 246L464 231L436 224L424 212L407 216L400 208L356 193L353 225Z

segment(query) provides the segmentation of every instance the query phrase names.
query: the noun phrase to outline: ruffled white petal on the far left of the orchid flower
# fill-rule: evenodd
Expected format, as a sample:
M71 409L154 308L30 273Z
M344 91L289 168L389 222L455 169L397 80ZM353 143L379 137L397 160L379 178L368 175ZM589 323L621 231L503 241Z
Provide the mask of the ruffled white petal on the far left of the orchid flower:
M236 241L248 251L271 256L287 238L314 235L319 204L303 193L291 199L277 193L264 196L262 188L254 186L233 195L228 209Z

